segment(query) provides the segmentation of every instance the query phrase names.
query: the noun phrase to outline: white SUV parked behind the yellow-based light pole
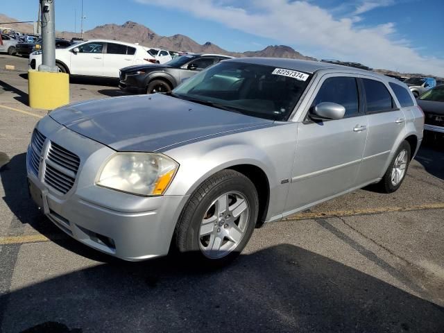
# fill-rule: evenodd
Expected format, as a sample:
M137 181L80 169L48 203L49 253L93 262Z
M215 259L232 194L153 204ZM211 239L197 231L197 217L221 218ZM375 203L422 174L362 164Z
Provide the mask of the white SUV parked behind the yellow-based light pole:
M72 75L119 78L119 69L150 62L143 46L115 40L88 40L66 49L56 49L59 71ZM29 67L38 69L42 51L29 56Z

